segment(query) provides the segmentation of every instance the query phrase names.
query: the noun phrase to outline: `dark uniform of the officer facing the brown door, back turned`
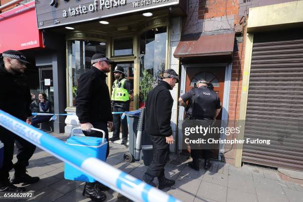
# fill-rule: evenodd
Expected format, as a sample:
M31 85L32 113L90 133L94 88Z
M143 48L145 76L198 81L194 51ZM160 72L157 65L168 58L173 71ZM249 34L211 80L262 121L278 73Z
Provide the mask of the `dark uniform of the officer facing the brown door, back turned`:
M186 111L186 119L190 120L213 120L216 109L221 108L220 98L217 93L206 86L193 88L188 93L181 96L182 100L189 101ZM191 149L193 161L197 161L200 156L200 150ZM210 151L203 150L204 159L209 159ZM198 160L199 161L199 160Z

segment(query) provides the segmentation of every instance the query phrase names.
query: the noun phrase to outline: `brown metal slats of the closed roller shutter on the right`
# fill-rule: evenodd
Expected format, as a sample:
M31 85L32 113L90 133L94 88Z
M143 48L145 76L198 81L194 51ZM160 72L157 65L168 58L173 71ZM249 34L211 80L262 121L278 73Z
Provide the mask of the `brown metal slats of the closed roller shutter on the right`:
M303 29L256 33L244 139L243 162L303 170Z

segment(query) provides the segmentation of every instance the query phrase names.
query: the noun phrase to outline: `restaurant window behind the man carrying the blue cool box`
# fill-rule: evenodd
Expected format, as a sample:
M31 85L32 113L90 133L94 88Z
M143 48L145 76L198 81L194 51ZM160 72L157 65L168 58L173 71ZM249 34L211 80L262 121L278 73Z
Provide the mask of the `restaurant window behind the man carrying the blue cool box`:
M67 41L69 107L75 106L78 80L91 68L91 59L95 53L106 52L106 43L91 40Z

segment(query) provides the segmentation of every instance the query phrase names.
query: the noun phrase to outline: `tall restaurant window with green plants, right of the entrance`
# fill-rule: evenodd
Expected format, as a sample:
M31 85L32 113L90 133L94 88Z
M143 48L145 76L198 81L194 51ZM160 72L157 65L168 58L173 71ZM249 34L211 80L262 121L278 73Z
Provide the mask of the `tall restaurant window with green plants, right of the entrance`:
M165 70L166 40L166 27L151 29L140 36L140 107Z

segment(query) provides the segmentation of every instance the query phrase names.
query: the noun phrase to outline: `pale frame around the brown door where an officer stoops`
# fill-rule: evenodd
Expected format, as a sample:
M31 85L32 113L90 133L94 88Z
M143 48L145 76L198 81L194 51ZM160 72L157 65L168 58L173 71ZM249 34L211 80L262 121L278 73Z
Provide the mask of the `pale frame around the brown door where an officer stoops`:
M231 63L216 63L216 64L181 64L181 85L180 85L180 96L185 93L186 88L186 70L187 68L193 67L225 67L225 76L224 76L224 92L223 92L223 101L222 101L222 122L221 127L226 127L228 121L228 109L229 109L229 94L230 94L230 84L231 84L231 72L232 64ZM183 106L179 106L179 117L178 117L178 153L182 151L182 121L184 120L184 110ZM226 121L223 121L226 120ZM225 134L220 134L220 138L224 139ZM219 144L219 153L218 159L221 161L221 153L224 152L224 144Z

